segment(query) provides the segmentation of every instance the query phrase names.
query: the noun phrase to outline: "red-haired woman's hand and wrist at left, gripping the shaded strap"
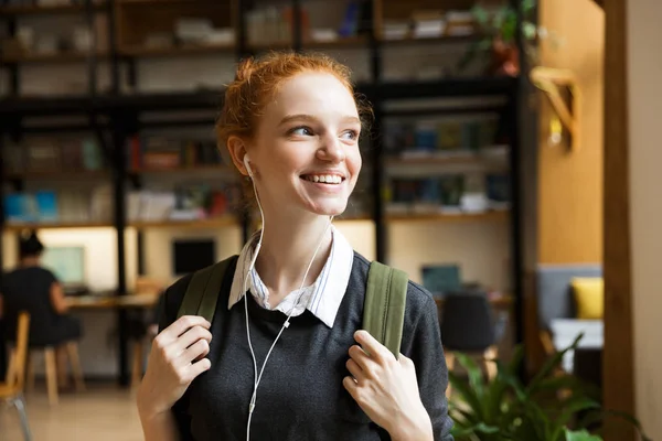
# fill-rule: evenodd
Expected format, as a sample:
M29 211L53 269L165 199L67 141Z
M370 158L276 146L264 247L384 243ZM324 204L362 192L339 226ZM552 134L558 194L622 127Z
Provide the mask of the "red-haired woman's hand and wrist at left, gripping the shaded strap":
M191 381L211 367L211 362L203 358L212 341L209 329L203 318L184 315L154 337L137 396L142 419L169 411Z

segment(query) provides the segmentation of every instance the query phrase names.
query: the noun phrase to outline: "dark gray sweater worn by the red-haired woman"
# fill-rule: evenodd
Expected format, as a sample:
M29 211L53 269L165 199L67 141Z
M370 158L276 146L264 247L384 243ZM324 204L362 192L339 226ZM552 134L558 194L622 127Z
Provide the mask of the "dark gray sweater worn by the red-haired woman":
M361 329L370 262L354 255L352 273L333 327L310 311L290 319L265 368L250 423L252 440L388 440L342 385L348 351ZM235 266L228 268L212 323L209 372L199 376L173 406L181 440L243 441L253 392L253 358L246 340L244 302L258 372L286 315L260 308L245 295L231 310L227 298ZM160 329L177 319L191 275L164 294ZM452 441L445 397L448 372L433 297L409 282L401 352L412 358L436 441Z

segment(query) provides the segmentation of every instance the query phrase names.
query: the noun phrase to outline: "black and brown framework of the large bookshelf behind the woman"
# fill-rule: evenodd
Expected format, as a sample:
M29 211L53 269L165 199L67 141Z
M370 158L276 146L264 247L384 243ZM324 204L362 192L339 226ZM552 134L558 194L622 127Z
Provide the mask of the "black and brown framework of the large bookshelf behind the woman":
M496 0L489 0L489 2ZM511 4L519 4L516 0ZM418 22L430 19L429 11L466 11L474 0L367 0L365 10L356 11L352 26L341 29L346 8L350 3L339 1L340 12L329 12L314 6L316 1L263 1L258 6L277 6L279 13L271 15L270 25L287 23L281 29L278 39L256 39L255 23L264 23L258 9L253 8L246 0L108 0L104 2L63 6L1 6L0 21L9 23L10 37L17 37L17 31L24 21L29 23L32 17L44 15L49 19L61 17L82 20L93 29L103 29L104 35L97 35L99 45L89 51L62 53L58 55L21 53L19 56L0 55L0 69L9 77L9 90L0 97L0 151L6 151L10 138L23 138L30 133L60 133L67 128L87 125L87 133L105 139L107 169L100 171L76 171L62 173L54 171L0 171L1 182L14 190L49 183L53 185L67 182L98 181L110 185L113 192L113 215L108 222L87 223L45 223L39 226L44 229L74 230L79 227L107 228L118 232L118 275L117 292L124 293L127 275L125 268L125 235L126 229L136 230L138 237L138 254L140 254L141 235L151 230L186 230L197 229L231 229L241 228L244 238L249 232L250 218L245 213L223 213L213 218L189 220L172 219L136 219L129 216L126 204L120 204L131 192L149 190L154 182L169 179L188 181L191 176L205 180L222 179L232 182L234 172L227 164L174 164L168 168L150 168L143 164L132 164L130 150L127 144L132 137L143 136L161 129L183 129L189 127L211 128L221 106L223 96L222 74L232 73L232 65L243 56L274 49L293 49L296 51L324 51L334 54L359 54L362 69L357 69L356 89L374 106L375 136L370 148L364 152L364 175L362 196L371 203L357 204L363 207L360 212L351 212L340 216L338 222L364 223L374 226L375 258L387 261L388 230L392 227L403 227L412 224L412 228L425 227L428 224L445 228L447 225L498 225L509 228L510 245L513 248L512 258L512 291L515 299L521 299L519 275L521 257L515 251L521 247L521 232L517 228L521 204L517 195L517 180L511 182L512 200L509 207L489 208L482 213L417 213L410 209L406 214L389 213L389 201L385 197L385 186L395 175L414 173L419 176L434 173L469 171L505 171L511 176L519 172L517 126L505 125L510 137L503 143L509 148L499 158L481 154L457 157L403 157L386 154L386 140L383 135L394 118L427 118L433 114L463 114L466 109L452 105L442 110L430 107L419 107L412 111L389 110L388 104L401 100L424 100L430 97L440 99L465 99L476 97L482 108L498 108L500 118L513 119L519 111L520 78L487 76L478 73L459 73L449 69L436 77L401 77L387 75L391 64L398 64L396 52L410 51L413 54L425 50L441 47L459 47L465 50L479 41L478 30L469 32L469 25L462 20L466 14L452 15L451 25L447 25L437 34L430 34L430 29L419 29ZM319 2L317 2L319 3ZM323 3L323 2L322 2ZM316 9L317 8L317 9ZM428 11L420 15L420 11ZM257 19L256 17L257 11ZM322 13L320 13L322 11ZM181 21L186 18L189 21ZM423 18L423 19L421 19ZM201 19L207 19L205 22ZM430 19L434 21L434 17ZM260 21L263 20L263 21ZM335 33L328 32L331 20ZM105 28L100 23L106 23ZM399 22L399 24L398 24ZM403 22L408 30L403 33ZM398 28L399 25L399 28ZM435 24L433 23L433 28ZM201 30L207 29L206 36L200 35ZM258 26L259 28L259 26ZM210 31L211 30L211 31ZM314 31L314 32L313 32ZM324 32L318 32L324 31ZM179 32L179 34L178 34ZM399 34L398 34L399 32ZM182 37L183 35L183 37ZM211 35L211 36L210 36ZM271 34L273 35L273 34ZM103 37L99 37L103 36ZM268 40L268 41L267 41ZM4 52L3 52L4 53ZM67 55L68 54L68 55ZM90 56L94 55L94 56ZM346 55L348 57L350 55ZM389 60L395 58L391 63ZM153 78L153 71L170 74L175 69L173 64L199 66L194 63L203 61L216 63L214 66L226 66L226 72L220 73L213 84L195 84L188 87L145 89ZM171 62L166 65L161 63ZM401 64L405 63L399 61ZM97 80L96 75L87 75L86 83L76 92L67 94L39 95L23 93L29 83L23 78L23 67L31 68L79 68L94 72L100 66L107 67L107 83ZM406 64L406 63L405 63ZM23 66L24 65L24 66ZM200 64L201 66L206 66ZM154 67L156 66L156 67ZM195 69L196 67L191 67ZM151 69L151 71L150 71ZM412 68L416 71L416 68ZM503 98L501 104L487 105L489 98ZM483 103L484 101L484 103ZM172 115L174 116L172 116ZM62 123L54 121L55 117L78 118L83 122ZM102 119L98 127L93 127L93 119ZM52 119L53 121L46 119ZM4 146L2 146L4 143ZM102 142L99 142L102 143ZM500 144L494 139L492 144ZM481 146L488 147L488 146ZM2 153L0 153L2 154ZM4 158L2 158L4 159ZM235 176L236 178L236 176ZM3 207L2 207L3 208ZM4 212L4 209L2 209ZM32 224L2 223L4 232L18 233ZM372 228L372 227L371 227ZM371 229L371 232L373 230ZM434 244L433 244L434 246ZM140 259L138 259L140 260ZM126 337L120 335L120 381L127 379L126 369Z

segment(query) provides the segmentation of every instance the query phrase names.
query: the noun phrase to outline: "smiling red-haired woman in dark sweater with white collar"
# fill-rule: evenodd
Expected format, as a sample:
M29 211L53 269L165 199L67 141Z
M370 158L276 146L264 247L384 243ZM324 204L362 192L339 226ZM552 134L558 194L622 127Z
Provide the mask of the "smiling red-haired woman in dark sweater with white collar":
M177 319L191 276L167 290L137 398L146 440L452 440L435 301L409 282L396 359L361 331L370 262L331 224L361 171L367 112L327 56L241 63L218 144L263 228L212 324Z

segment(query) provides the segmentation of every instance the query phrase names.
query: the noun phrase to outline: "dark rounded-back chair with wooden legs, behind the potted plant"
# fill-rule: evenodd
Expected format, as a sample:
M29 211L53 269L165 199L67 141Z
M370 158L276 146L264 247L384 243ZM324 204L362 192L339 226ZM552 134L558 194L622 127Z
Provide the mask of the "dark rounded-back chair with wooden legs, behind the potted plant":
M449 372L455 367L455 352L480 353L488 378L496 377L496 365L492 363L499 355L488 298L481 292L449 293L445 297L441 310L441 340ZM451 387L446 389L450 397Z

